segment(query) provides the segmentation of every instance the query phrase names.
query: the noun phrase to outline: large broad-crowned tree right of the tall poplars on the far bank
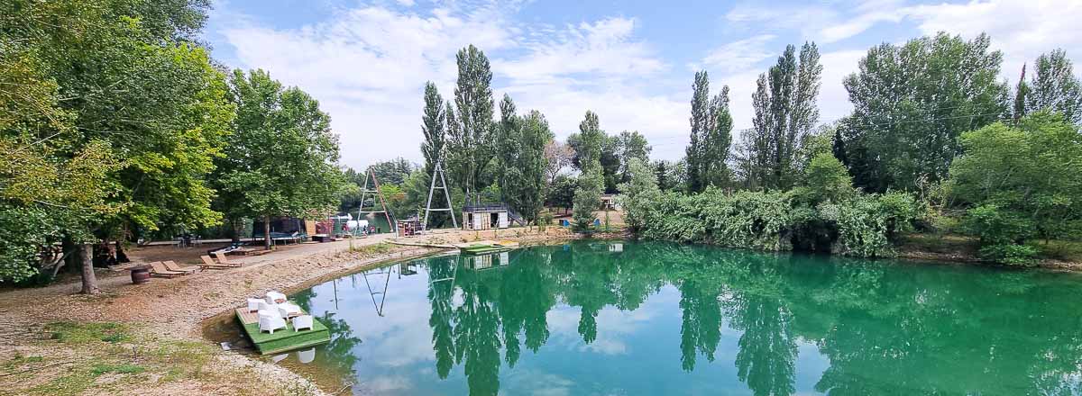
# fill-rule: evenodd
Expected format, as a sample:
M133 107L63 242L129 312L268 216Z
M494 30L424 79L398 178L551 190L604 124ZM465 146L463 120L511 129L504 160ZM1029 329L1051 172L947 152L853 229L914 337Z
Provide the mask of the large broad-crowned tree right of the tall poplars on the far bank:
M986 35L938 33L868 50L844 81L854 109L843 138L857 187L882 192L942 180L962 152L958 137L1008 113L1002 55L990 43Z

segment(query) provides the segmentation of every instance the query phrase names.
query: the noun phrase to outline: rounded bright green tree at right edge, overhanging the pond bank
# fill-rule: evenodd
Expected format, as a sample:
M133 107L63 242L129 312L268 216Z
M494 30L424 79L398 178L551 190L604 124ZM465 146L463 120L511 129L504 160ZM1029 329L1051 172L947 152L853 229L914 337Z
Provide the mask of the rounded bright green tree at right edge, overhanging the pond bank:
M995 123L962 135L965 153L948 189L971 205L967 222L986 257L1024 262L1044 241L1082 235L1082 134L1060 115L1038 112L1017 126Z

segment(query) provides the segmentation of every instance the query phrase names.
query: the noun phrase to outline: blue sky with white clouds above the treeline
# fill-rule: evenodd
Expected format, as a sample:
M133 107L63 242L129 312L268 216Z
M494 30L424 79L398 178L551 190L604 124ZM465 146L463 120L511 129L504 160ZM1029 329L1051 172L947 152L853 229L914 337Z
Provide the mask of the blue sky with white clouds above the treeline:
M1082 0L222 0L202 39L226 66L312 94L331 115L342 164L360 168L421 162L424 83L452 99L454 54L469 44L491 63L496 101L509 94L519 112L541 111L558 139L593 110L609 134L638 131L651 158L678 160L698 70L711 94L729 86L734 129L749 128L755 78L787 44L814 41L827 123L850 111L842 80L873 45L987 32L1013 86L1024 63L1053 49L1082 60L1079 15Z

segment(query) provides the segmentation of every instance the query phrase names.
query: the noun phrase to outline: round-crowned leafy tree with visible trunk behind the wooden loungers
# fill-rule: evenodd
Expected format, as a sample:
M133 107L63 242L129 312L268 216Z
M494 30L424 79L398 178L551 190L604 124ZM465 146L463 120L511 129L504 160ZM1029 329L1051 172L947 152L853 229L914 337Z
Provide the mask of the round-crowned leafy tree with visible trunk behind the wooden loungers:
M229 82L237 118L219 161L219 205L227 216L262 218L269 249L270 217L317 217L339 203L338 136L316 99L266 71L234 70Z

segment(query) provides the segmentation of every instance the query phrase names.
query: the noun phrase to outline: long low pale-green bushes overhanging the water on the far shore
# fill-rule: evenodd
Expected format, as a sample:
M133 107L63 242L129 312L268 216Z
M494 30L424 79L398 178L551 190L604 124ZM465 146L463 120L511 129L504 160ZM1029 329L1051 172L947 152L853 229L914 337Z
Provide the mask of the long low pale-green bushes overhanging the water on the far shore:
M800 191L661 194L645 209L636 236L767 251L893 257L920 211L909 193L856 194L840 202L802 202ZM652 206L652 207L650 207Z

